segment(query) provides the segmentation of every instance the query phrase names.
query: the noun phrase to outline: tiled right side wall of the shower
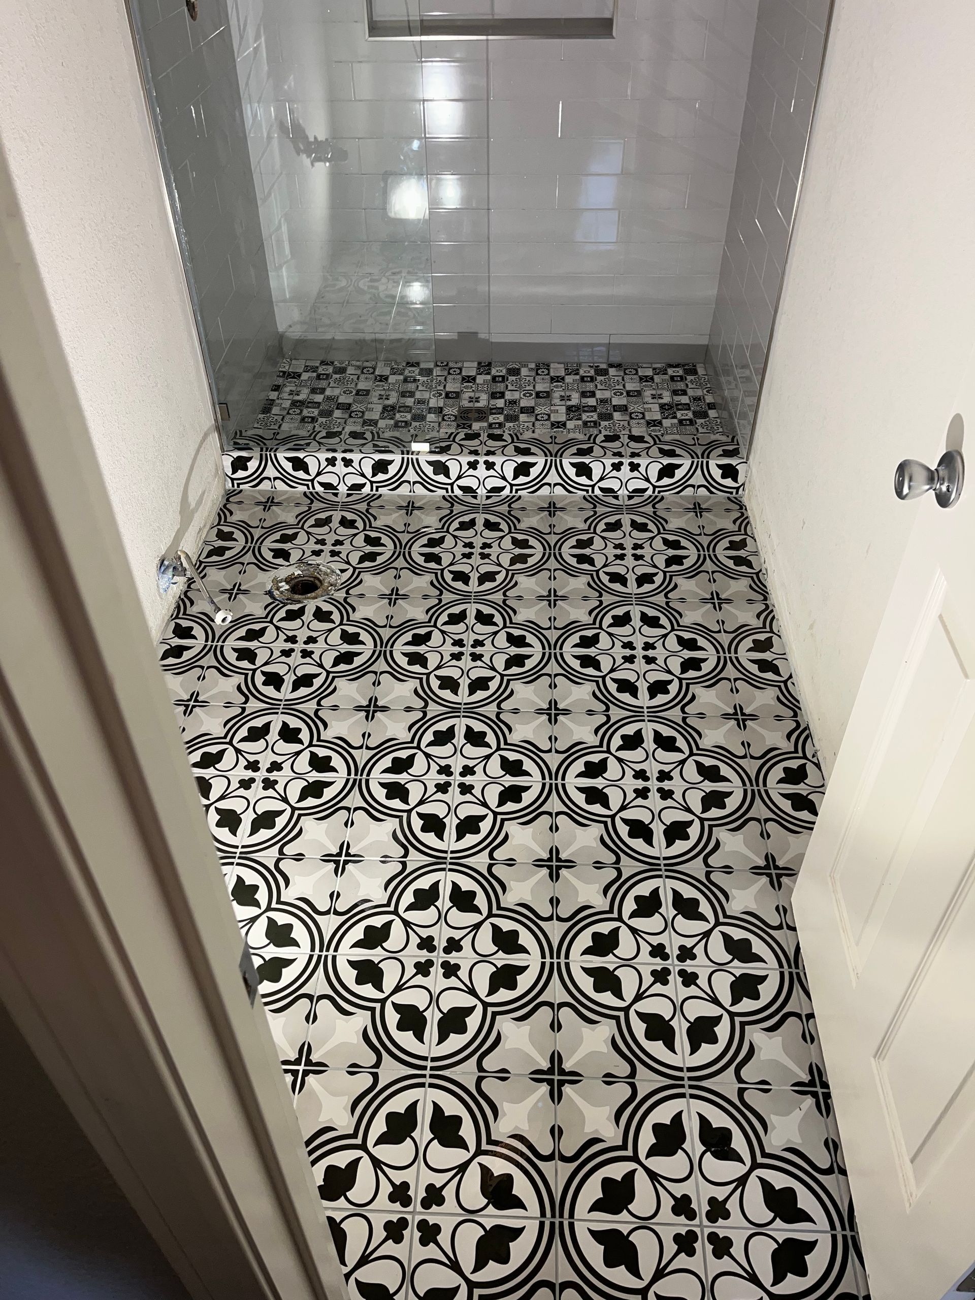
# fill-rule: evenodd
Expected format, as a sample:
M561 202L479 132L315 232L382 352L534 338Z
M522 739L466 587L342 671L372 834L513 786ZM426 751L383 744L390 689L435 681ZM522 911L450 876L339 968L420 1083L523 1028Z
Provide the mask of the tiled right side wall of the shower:
M760 0L707 358L742 447L781 287L826 43L827 0Z

